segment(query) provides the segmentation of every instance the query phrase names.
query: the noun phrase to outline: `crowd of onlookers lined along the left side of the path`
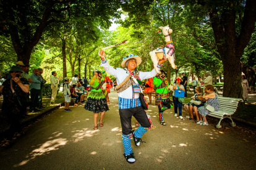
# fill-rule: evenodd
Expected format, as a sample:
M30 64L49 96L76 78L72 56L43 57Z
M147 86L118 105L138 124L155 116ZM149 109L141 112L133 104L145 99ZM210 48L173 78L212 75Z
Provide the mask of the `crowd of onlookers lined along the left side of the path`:
M43 90L46 80L43 78L43 69L34 68L33 73L28 75L29 67L30 65L19 61L11 67L6 79L2 78L0 81L0 97L1 95L4 97L1 112L7 116L10 124L7 139L1 147L10 147L12 140L23 136L24 132L20 124L20 118L29 116L27 107L29 107L30 113L36 113L45 108L43 106ZM56 76L56 71L52 71L50 103L56 103L59 79L61 79L61 76L58 79ZM78 75L75 75L71 83L69 83L69 78L64 78L65 111L71 111L69 110L71 98L75 98L75 105L84 102L85 92L87 92L87 79L79 79L78 77Z

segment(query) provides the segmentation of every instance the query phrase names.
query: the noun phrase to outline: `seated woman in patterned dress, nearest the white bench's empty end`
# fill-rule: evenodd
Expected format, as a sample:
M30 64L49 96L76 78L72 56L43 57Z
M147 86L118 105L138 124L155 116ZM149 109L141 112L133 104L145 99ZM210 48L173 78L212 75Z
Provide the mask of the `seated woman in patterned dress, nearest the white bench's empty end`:
M220 108L220 103L218 100L218 96L214 92L214 87L211 84L208 84L205 86L205 94L203 94L203 99L207 101L207 105L210 105L211 107L215 108L215 111L218 111ZM200 121L197 124L203 124L203 125L208 125L207 118L206 116L210 113L209 110L206 109L207 105L204 105L202 107L198 108L198 113L200 114ZM203 122L202 122L203 120Z

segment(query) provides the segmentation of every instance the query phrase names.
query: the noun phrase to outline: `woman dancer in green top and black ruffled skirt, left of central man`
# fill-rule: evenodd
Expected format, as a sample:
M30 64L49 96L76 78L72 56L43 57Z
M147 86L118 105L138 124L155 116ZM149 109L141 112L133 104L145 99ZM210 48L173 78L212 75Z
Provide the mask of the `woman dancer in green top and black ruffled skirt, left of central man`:
M94 130L98 129L98 115L100 113L100 127L103 126L103 118L105 111L108 111L108 104L106 103L105 95L103 94L103 87L101 84L101 71L95 71L94 76L90 81L92 90L88 94L87 101L85 103L85 109L93 111Z

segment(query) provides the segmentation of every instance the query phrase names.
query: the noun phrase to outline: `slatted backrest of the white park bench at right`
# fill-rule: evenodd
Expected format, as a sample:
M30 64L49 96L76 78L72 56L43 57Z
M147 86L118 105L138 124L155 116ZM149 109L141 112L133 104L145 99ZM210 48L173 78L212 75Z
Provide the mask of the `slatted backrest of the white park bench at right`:
M237 109L237 106L242 99L231 97L218 97L220 103L219 111L225 111L233 115Z

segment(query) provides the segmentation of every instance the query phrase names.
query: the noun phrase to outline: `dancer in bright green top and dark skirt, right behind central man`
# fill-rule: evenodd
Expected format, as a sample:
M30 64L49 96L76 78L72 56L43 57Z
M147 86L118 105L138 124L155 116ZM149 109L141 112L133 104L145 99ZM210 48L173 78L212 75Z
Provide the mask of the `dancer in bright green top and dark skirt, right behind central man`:
M161 70L161 73L156 75L153 79L153 84L156 86L156 100L160 100L160 103L158 103L159 120L160 124L163 126L166 126L163 118L163 112L173 107L171 100L168 97L168 92L171 90L168 88L169 83L165 76L166 73Z

